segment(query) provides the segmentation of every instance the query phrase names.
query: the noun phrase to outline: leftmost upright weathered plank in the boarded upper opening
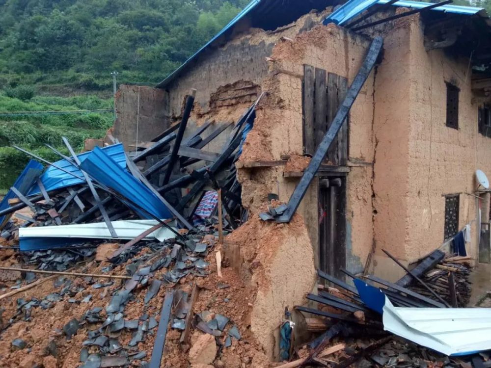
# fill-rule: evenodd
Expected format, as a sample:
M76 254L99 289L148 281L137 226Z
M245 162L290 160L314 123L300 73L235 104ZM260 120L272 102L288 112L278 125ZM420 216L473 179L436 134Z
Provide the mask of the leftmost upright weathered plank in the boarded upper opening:
M314 127L314 87L315 68L311 65L303 66L302 83L302 117L303 117L303 152L313 155L315 152Z

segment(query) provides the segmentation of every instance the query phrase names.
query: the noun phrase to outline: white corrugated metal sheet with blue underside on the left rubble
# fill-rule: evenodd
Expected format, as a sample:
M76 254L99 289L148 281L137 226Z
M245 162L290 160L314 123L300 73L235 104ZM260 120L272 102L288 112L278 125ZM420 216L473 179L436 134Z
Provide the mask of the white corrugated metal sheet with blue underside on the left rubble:
M131 240L159 222L156 220L127 220L111 223L118 234L116 239ZM162 227L144 239L164 241L174 237L175 234L172 231ZM22 252L61 247L68 243L78 243L83 241L82 239L113 239L113 237L105 222L19 228L19 246Z

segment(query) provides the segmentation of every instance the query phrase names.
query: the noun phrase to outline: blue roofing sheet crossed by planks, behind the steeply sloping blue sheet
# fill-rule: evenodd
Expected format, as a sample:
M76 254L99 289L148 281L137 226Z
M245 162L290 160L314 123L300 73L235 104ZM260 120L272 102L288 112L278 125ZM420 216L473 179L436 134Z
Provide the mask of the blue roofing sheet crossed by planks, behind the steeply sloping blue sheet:
M126 168L126 155L122 144L114 144L112 146L104 147L102 151L107 156L109 156L119 167L121 167L122 169ZM83 162L87 157L89 157L91 152L92 151L82 153L80 155L77 155L77 157L80 159L81 162ZM71 173L74 173L79 177L83 177L82 172L76 166L73 166L65 159L56 161L55 165ZM51 190L84 183L83 180L77 179L76 177L60 169L57 169L53 166L50 166L43 173L43 175L41 175L41 182L44 184L48 192ZM29 190L28 195L35 195L35 194L39 194L40 192L41 190L39 189L39 186L36 184L31 190Z

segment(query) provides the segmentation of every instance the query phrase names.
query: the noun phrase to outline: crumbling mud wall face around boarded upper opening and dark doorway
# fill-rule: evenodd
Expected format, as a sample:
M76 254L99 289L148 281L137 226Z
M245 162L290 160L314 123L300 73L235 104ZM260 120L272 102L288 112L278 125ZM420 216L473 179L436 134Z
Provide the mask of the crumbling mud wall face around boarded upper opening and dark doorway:
M325 69L348 78L351 83L369 45L366 38L333 25L316 26L293 41L278 42L271 55L270 73L263 83L263 90L269 95L260 105L240 161L279 160L283 155L301 155L303 65ZM348 267L351 270L361 268L373 242L370 166L374 158L373 75L369 76L350 111L350 160L368 162L368 167L352 167L347 181L347 221L353 229L347 239ZM253 176L252 171L257 174ZM247 175L241 172L247 172ZM282 170L277 168L240 169L239 181L244 188L244 203L254 213L257 211L254 203L260 204L270 191L277 193L281 201L288 201L298 184L298 179L283 178ZM316 265L319 264L317 191L315 179L299 208L306 219Z

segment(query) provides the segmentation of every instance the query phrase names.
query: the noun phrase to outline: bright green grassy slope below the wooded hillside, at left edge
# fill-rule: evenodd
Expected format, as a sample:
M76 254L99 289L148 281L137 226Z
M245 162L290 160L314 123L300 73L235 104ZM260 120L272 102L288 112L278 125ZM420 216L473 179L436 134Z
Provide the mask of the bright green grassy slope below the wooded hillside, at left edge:
M74 111L112 108L112 99L97 96L34 96L21 101L0 94L0 113L7 111ZM74 150L82 151L85 139L103 138L113 124L110 113L73 113L63 115L0 116L0 188L9 188L19 176L29 157L11 147L27 149L49 161L60 159L46 144L68 154L61 140L65 136ZM5 189L0 189L4 194Z

